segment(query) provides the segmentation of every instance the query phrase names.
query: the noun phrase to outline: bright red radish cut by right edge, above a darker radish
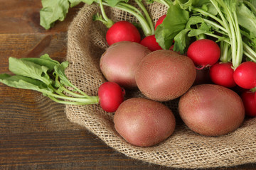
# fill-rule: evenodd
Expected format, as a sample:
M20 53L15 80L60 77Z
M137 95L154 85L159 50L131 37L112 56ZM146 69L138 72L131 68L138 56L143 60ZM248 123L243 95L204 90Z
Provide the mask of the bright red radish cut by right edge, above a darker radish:
M256 63L242 62L234 72L234 80L238 86L244 89L252 89L256 86Z

